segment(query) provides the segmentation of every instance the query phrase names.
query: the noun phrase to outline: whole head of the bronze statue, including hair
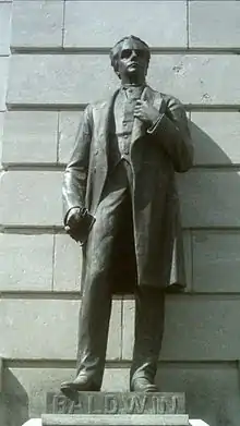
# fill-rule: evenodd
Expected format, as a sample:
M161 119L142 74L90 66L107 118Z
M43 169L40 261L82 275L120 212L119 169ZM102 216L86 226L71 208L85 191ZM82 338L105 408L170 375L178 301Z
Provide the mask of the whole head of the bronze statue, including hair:
M121 80L129 76L133 81L144 81L149 58L149 47L135 36L123 37L110 50L111 65Z

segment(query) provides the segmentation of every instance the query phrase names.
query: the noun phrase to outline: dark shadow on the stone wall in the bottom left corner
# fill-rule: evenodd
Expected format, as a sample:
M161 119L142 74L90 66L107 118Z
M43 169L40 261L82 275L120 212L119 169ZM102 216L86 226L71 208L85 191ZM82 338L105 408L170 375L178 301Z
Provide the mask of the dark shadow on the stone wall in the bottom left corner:
M8 368L4 368L2 388L1 404L3 409L3 422L1 425L23 425L24 422L29 418L28 395L12 372L10 372Z

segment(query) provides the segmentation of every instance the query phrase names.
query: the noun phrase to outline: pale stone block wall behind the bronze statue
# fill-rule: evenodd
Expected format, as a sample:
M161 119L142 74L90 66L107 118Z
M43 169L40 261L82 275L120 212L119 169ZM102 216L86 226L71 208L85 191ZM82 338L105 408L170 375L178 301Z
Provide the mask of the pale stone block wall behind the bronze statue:
M127 34L152 46L148 82L184 102L195 145L178 177L188 289L168 296L157 380L187 392L191 417L239 426L239 16L228 0L0 0L2 426L39 416L74 376L81 252L62 230L62 171L84 106L117 87L108 51ZM133 314L115 299L104 389L128 389Z

